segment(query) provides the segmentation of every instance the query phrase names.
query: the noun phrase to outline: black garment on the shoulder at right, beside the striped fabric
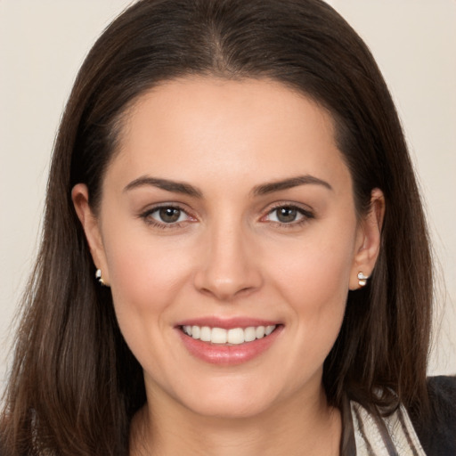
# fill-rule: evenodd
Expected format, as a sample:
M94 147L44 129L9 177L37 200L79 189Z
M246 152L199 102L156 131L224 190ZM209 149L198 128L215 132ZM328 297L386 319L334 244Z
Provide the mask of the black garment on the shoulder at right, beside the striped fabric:
M419 442L428 456L456 455L456 377L429 378L428 395L429 418L411 415Z

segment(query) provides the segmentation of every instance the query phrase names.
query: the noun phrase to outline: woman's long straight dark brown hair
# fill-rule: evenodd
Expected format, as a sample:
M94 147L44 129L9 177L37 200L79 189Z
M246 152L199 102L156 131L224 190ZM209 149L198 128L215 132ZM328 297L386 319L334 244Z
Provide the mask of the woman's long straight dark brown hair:
M402 128L366 45L320 0L142 0L88 54L53 151L43 241L23 302L0 438L7 454L125 455L145 402L70 198L96 211L122 114L159 82L188 75L271 78L330 111L360 216L386 199L379 260L350 291L324 364L330 403L426 410L432 301L428 234Z

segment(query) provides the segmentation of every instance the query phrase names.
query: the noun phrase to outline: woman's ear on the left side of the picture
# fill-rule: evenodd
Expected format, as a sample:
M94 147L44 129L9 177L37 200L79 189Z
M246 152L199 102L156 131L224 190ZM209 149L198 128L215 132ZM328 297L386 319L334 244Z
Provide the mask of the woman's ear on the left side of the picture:
M109 271L104 252L100 220L94 215L89 205L89 191L84 183L77 183L71 191L71 199L75 207L77 217L82 224L85 238L90 248L94 265L102 271L102 281L105 285L110 283Z

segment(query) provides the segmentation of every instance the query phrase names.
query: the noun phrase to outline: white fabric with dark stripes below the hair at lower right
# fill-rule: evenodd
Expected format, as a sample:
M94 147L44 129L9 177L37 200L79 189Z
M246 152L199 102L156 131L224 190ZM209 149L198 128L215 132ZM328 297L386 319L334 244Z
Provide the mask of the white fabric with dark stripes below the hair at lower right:
M347 448L344 456L426 456L403 406L383 419L354 401L350 401L350 411L355 451Z

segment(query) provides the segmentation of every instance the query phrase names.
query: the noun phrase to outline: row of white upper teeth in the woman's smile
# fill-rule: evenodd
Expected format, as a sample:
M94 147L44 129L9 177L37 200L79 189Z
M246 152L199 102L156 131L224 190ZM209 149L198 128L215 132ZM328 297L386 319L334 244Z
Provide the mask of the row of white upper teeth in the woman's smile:
M208 326L183 326L183 332L191 338L200 339L203 342L212 344L231 344L240 345L244 342L252 342L256 338L269 336L276 325L270 326L249 326L248 328L232 328L224 330L223 328L209 328Z

